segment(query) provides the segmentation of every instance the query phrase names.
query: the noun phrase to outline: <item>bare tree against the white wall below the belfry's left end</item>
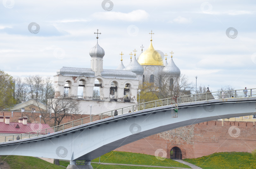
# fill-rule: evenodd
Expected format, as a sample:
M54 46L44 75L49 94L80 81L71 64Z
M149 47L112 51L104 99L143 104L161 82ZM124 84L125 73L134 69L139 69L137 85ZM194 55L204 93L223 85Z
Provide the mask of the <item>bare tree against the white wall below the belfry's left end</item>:
M81 114L79 100L68 97L50 98L47 107L50 108L49 118L54 120L54 126L59 125L64 117L76 118Z

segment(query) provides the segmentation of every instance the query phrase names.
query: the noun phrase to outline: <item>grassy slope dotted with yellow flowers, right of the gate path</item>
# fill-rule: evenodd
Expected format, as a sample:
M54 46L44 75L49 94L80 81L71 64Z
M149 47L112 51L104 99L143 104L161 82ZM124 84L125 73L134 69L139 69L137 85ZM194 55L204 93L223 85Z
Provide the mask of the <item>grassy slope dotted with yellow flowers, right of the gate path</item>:
M222 152L196 159L184 159L203 169L256 169L256 160L251 153Z

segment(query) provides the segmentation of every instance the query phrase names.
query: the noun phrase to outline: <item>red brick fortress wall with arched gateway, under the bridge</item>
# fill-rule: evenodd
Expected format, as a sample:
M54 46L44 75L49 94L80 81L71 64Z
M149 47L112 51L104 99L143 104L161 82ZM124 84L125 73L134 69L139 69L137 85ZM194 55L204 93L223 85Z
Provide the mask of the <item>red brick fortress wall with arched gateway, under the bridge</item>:
M180 148L182 159L216 152L251 152L256 149L254 122L225 121L222 125L222 121L208 121L145 137L115 151L155 155L162 149L170 158L173 147Z

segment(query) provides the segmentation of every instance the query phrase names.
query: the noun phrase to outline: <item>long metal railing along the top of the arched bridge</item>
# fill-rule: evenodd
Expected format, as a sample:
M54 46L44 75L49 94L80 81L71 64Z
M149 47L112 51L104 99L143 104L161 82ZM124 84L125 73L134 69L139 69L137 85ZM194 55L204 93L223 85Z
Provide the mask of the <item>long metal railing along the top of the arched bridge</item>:
M57 125L51 128L42 129L40 131L15 134L11 136L2 136L0 137L0 142L8 142L16 139L25 139L25 138L38 137L41 135L47 135L56 131L62 131L65 129L69 129L71 127L83 125L92 121L113 117L118 114L128 114L131 112L144 110L148 108L173 105L176 103L198 102L198 101L208 101L208 100L214 100L214 99L229 99L229 98L240 98L240 97L256 97L256 89L255 88L247 89L247 92L245 92L244 89L242 89L242 90L226 90L226 91L217 91L217 92L209 92L209 93L199 93L199 94L193 94L193 95L160 99L160 100L155 100L151 102L144 102L137 105L116 109L117 113L115 113L115 110L112 110L112 111L104 112L101 114L91 115L82 119L74 120L62 125Z

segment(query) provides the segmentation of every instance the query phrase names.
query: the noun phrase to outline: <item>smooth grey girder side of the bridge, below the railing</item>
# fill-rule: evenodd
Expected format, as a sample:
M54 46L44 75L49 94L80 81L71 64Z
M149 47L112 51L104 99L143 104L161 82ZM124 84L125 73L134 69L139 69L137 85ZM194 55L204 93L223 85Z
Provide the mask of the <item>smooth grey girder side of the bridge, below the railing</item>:
M182 103L178 117L172 105L122 114L58 131L47 136L0 143L0 155L91 161L125 144L209 120L255 115L255 98Z

